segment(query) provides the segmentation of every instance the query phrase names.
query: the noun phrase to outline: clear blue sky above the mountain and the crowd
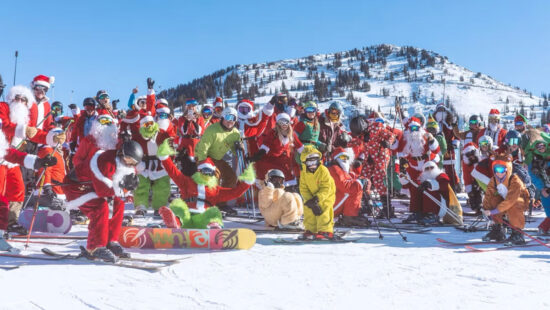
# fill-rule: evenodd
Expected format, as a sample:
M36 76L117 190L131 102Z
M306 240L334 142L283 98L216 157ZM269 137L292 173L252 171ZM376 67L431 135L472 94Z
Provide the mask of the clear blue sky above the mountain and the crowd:
M9 1L0 74L56 77L55 99L126 102L234 64L412 45L536 95L550 92L550 1ZM52 97L51 91L48 93Z

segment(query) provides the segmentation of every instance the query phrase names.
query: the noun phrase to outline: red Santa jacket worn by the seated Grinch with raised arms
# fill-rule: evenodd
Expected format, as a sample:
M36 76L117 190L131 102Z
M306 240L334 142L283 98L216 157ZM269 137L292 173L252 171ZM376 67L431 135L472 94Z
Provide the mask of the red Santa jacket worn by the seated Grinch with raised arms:
M185 200L189 208L195 210L194 212L203 212L220 202L236 199L242 196L250 187L250 184L239 181L234 188L221 186L210 188L195 183L192 178L181 173L170 157L163 159L162 165L178 186L181 199Z

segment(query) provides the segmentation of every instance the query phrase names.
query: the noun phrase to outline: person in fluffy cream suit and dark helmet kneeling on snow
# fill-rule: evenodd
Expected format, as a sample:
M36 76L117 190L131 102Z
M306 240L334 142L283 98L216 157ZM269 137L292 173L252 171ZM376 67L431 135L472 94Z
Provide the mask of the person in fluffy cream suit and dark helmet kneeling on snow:
M267 172L262 183L256 183L258 192L258 206L269 226L280 229L302 229L300 221L304 213L304 203L298 193L285 191L285 175L279 169Z

